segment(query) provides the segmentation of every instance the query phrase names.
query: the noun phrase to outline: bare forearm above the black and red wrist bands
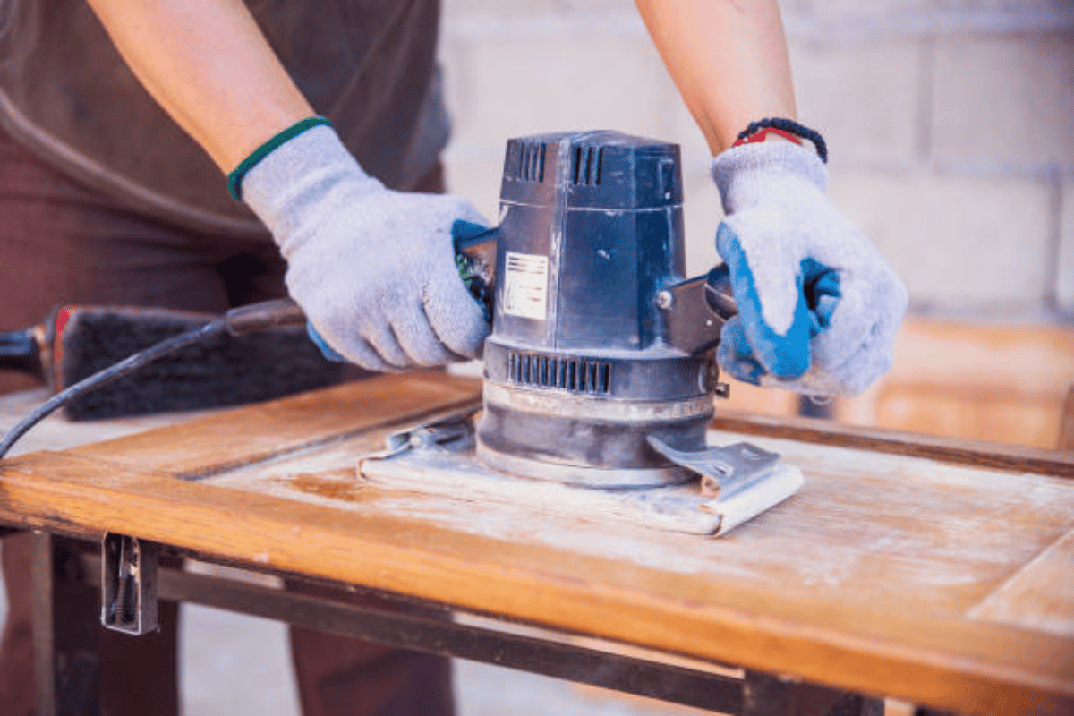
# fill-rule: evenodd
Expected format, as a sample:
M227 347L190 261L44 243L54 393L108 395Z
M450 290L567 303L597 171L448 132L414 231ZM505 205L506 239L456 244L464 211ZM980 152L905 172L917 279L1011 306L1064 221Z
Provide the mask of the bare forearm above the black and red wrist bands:
M775 0L636 1L713 155L751 121L795 118Z

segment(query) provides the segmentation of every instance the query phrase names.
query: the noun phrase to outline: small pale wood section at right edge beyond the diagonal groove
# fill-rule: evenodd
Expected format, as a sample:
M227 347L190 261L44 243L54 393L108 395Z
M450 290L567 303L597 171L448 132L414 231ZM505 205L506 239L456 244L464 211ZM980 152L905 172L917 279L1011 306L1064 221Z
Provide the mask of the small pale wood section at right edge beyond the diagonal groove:
M970 616L1074 637L1074 532L1037 555Z

